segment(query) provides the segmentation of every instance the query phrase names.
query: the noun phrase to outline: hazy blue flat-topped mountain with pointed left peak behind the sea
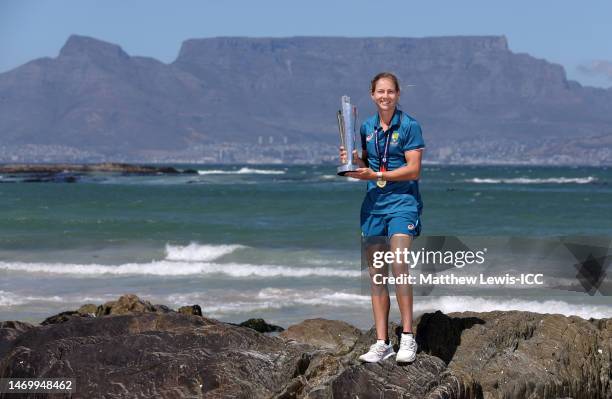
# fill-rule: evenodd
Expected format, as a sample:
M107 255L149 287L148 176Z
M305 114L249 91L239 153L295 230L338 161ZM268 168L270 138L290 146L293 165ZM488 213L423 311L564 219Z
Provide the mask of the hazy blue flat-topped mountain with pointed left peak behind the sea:
M165 64L75 35L0 74L0 161L333 157L340 96L373 113L382 70L431 161L612 164L612 89L504 37L190 39Z

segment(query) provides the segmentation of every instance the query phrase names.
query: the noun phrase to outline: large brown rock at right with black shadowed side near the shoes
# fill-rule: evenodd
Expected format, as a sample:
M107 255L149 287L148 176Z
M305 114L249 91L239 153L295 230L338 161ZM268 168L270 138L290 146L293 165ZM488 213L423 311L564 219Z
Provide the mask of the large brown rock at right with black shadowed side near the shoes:
M423 315L417 337L454 376L477 381L485 398L612 397L612 319L436 312Z

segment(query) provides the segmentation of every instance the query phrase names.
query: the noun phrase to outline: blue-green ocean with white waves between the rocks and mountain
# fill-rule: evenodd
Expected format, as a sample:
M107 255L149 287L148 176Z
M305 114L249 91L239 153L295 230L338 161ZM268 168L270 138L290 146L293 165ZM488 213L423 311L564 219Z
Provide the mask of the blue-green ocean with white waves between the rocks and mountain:
M133 293L199 304L223 321L371 327L360 278L364 182L337 177L333 165L170 166L198 174L0 176L0 320L40 322ZM420 184L424 236L612 236L610 168L427 165ZM612 317L609 296L539 292L451 290L415 296L414 310Z

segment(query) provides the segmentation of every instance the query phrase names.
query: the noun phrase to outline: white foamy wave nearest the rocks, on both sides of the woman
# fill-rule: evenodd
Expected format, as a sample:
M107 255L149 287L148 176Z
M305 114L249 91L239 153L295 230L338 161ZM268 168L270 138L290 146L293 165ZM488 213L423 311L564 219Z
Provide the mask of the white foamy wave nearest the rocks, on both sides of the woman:
M139 297L152 303L164 303L178 308L183 305L198 304L208 317L224 317L235 314L249 314L256 311L283 310L292 307L321 306L330 308L362 309L368 312L371 308L370 296L360 294L359 291L321 289L293 289L293 288L262 288L260 290L207 290L200 292L182 292L164 296L151 296L151 294L136 293ZM100 304L116 298L117 295L108 294L100 297L88 295L22 295L0 290L0 307L27 305L30 303L74 304L80 306L85 303ZM36 305L39 306L39 305ZM452 312L491 312L491 311L528 311L541 314L561 314L565 316L579 316L584 319L612 317L612 306L608 304L572 303L558 299L516 299L516 298L490 298L478 296L440 296L415 297L414 311L417 314L440 310L444 313ZM319 309L322 315L326 311Z

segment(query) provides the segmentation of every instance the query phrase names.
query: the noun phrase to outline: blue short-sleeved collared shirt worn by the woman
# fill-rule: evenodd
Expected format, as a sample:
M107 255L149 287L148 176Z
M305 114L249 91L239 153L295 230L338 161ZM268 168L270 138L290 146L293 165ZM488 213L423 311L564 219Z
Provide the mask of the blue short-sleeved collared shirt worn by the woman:
M376 131L378 131L379 152L376 151ZM368 165L373 171L378 171L380 168L379 154L380 157L383 156L387 135L390 135L388 171L406 165L404 156L406 151L425 147L419 123L397 108L387 131L382 130L377 113L362 123L360 135L361 147L368 152ZM418 180L389 181L383 188L378 187L376 181L370 180L362 212L386 214L414 210L420 214L422 207Z

